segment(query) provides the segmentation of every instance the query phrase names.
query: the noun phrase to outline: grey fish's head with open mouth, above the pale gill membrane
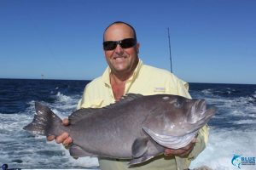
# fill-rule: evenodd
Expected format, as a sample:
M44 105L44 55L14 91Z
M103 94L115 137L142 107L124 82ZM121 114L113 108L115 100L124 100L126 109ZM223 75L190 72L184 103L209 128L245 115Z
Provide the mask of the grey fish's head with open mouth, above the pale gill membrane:
M204 126L213 114L204 99L166 95L143 122L143 129L157 135L183 136Z

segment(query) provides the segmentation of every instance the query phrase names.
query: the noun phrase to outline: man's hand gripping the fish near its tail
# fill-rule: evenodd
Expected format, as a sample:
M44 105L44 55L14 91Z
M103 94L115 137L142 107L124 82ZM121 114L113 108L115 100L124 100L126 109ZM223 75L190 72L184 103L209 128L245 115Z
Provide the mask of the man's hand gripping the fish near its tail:
M64 126L68 126L69 125L69 122L68 122L67 118L63 119L62 125L64 125ZM47 137L48 141L52 141L54 139L55 139L57 144L61 144L62 143L65 146L68 146L68 145L72 144L72 142L73 142L73 139L71 137L69 137L68 133L61 133L61 135L59 135L57 137L55 137L53 135Z

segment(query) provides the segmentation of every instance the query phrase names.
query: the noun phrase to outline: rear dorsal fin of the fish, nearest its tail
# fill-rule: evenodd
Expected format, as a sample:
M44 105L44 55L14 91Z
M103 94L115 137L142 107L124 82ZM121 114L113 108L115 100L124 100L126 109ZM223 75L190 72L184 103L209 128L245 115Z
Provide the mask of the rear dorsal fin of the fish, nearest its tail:
M82 108L78 111L73 112L70 116L68 116L68 120L70 124L75 124L76 122L81 121L81 119L84 119L87 116L90 116L91 114L95 114L98 111L96 108Z

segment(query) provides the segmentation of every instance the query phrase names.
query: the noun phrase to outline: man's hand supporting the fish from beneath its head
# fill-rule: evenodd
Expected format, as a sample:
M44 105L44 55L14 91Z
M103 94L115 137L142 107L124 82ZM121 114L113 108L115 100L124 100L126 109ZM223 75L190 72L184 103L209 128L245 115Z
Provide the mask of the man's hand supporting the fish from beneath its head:
M173 150L173 149L166 149L165 150L165 156L187 156L189 155L190 151L193 150L195 146L196 138L194 138L188 145L186 145L183 148Z

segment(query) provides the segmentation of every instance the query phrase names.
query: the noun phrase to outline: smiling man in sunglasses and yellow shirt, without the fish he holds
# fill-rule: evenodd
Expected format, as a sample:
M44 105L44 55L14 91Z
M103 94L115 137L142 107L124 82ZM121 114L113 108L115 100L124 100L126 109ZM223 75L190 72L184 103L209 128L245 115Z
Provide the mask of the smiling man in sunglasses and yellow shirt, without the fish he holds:
M138 58L140 44L137 42L136 31L124 22L114 22L104 31L103 48L108 68L102 77L90 82L84 89L83 98L78 108L101 108L119 101L124 94L176 94L191 98L188 84L178 79L169 71L143 65ZM63 124L67 125L65 119ZM55 137L48 137L49 140ZM208 139L207 126L202 127L197 137L187 146L178 149L166 149L165 154L144 162L130 169L186 169L190 161L204 150ZM56 138L57 143L71 144L68 133ZM99 157L102 170L127 169L124 160Z

